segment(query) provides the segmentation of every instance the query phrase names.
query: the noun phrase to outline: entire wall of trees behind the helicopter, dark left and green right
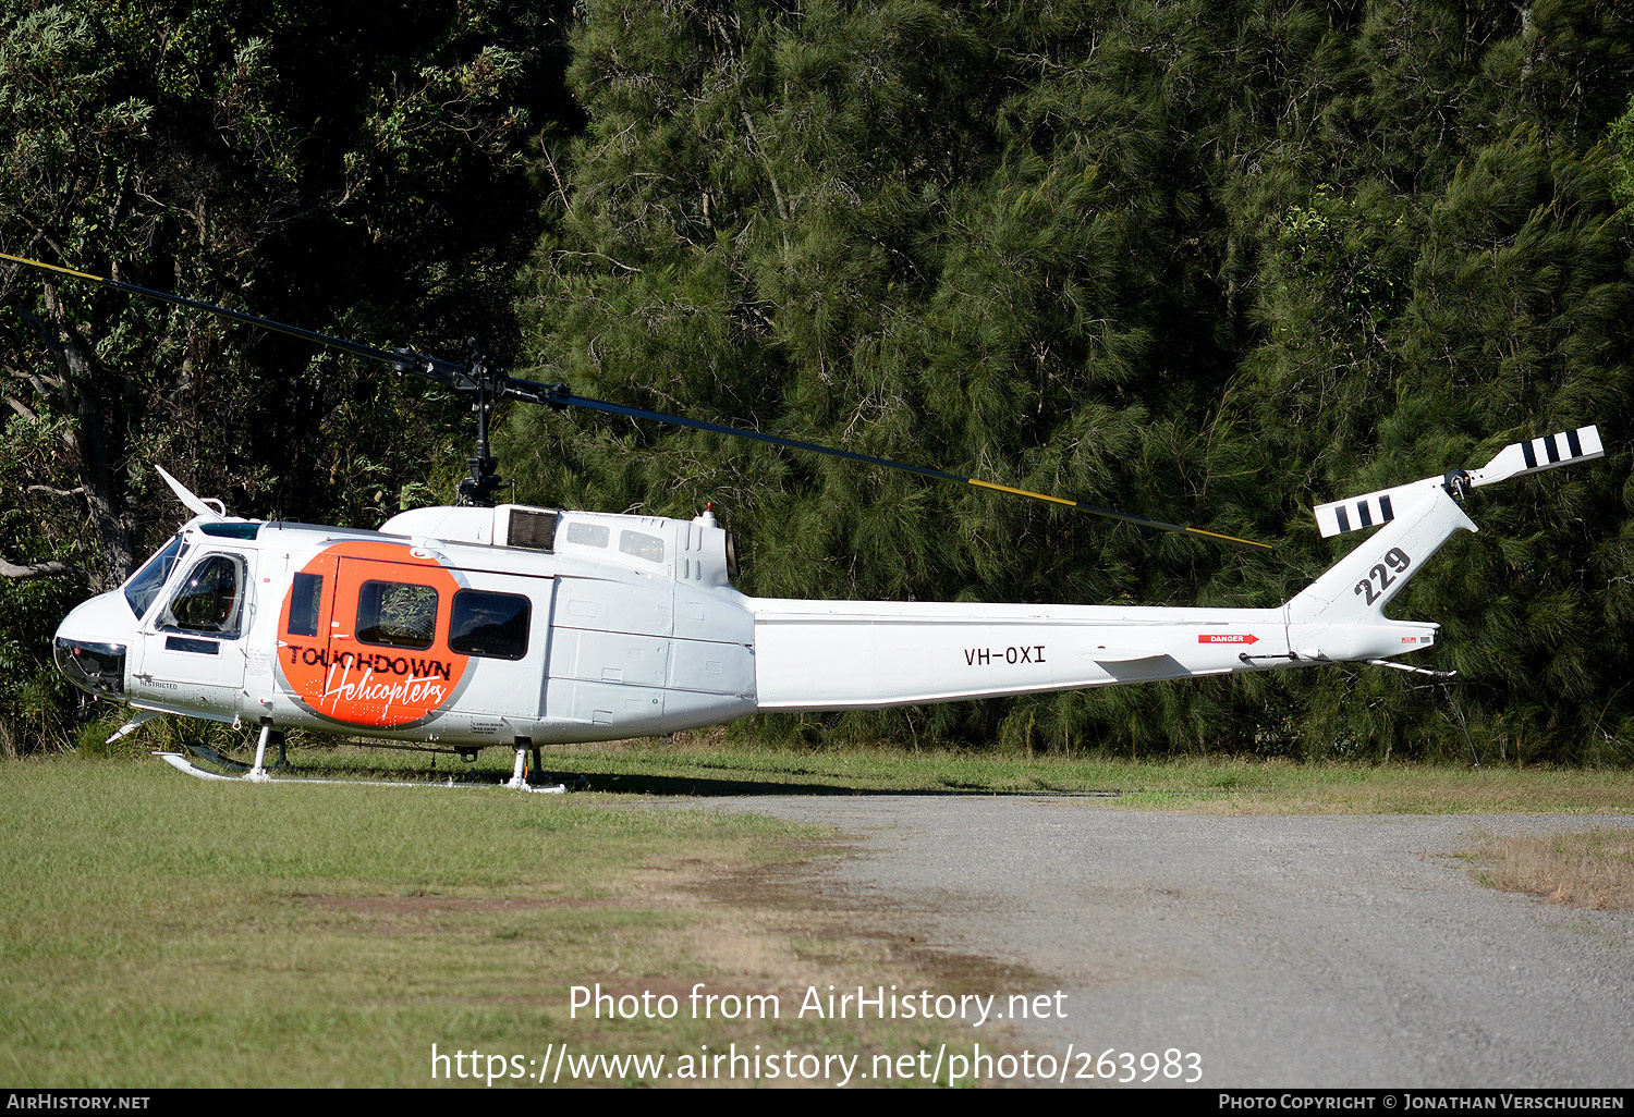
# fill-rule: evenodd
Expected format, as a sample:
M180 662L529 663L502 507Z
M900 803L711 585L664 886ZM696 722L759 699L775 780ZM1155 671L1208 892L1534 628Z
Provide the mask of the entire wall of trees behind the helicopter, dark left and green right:
M1467 722L1485 754L1634 761L1624 5L0 10L8 251L374 345L477 336L585 395L1279 547L508 416L520 500L716 500L750 593L1271 606L1351 545L1310 505L1606 436L1603 464L1482 490L1482 532L1395 606L1444 621L1456 709L1333 666L763 732L1384 758L1462 753ZM150 461L261 514L446 496L464 431L436 392L95 287L0 284L13 568L118 580L173 516ZM0 668L38 665L72 585L0 580Z

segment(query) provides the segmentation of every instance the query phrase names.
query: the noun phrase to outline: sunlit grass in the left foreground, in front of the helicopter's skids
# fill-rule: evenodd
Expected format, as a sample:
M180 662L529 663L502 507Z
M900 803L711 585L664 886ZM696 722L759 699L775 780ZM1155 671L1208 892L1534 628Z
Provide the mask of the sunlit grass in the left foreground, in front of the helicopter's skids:
M534 1076L564 1045L665 1053L665 1073L730 1044L969 1048L951 1024L796 1017L814 985L944 988L856 913L778 893L783 867L830 856L810 828L595 794L221 785L149 759L13 761L0 787L11 1086L425 1086L433 1044L480 1055L441 1081ZM649 1009L574 1012L575 985Z

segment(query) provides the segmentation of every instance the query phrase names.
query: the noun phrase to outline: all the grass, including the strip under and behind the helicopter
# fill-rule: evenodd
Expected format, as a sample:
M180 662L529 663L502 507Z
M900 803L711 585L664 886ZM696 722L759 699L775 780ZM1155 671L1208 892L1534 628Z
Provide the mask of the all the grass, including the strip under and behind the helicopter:
M345 748L294 759L320 776L430 763ZM644 808L652 797L1072 792L1219 813L1634 807L1629 772L1511 768L1137 764L709 741L552 750L546 766L582 776L587 790L245 787L185 779L142 754L0 763L0 1079L425 1086L436 1045L436 1083L471 1086L469 1075L495 1071L510 1083L541 1066L549 1078L567 1050L663 1053L662 1070L601 1065L592 1081L670 1084L683 1058L696 1073L704 1058L757 1044L761 1057L815 1060L807 1068L858 1057L866 1066L873 1055L941 1044L969 1050L971 1029L958 1024L801 1019L812 988L1049 988L1047 975L949 965L856 901L812 893L797 869L843 852L827 831ZM502 779L508 758L492 751L466 766L441 756L436 772ZM1500 887L1619 906L1634 875L1627 841L1627 831L1541 839L1549 857L1490 843L1471 857ZM690 999L699 983L704 998L717 996L708 1019ZM598 1019L574 1011L574 986L614 999ZM773 1004L779 1012L768 1019ZM675 1009L670 1019L663 1008ZM1003 1034L982 1044L998 1050ZM458 1063L446 1058L454 1053ZM837 1068L822 1078L837 1079Z

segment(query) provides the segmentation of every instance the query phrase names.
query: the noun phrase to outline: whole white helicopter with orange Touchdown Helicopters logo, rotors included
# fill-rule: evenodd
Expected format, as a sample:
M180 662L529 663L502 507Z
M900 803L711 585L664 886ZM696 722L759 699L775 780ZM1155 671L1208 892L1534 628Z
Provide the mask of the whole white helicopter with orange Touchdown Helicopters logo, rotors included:
M1268 671L1389 656L1435 642L1433 622L1384 606L1458 531L1474 487L1603 456L1595 426L1516 443L1454 469L1322 505L1324 536L1379 534L1281 606L799 601L730 585L735 554L698 518L490 505L498 398L703 428L1000 488L1165 531L1217 536L1041 493L572 395L497 374L328 338L211 304L69 271L346 351L477 397L479 439L461 506L420 508L377 531L239 519L160 474L194 513L124 586L75 607L56 661L75 686L158 714L260 727L253 768L286 728L436 743L461 753L665 735L755 712L879 709ZM1263 544L1248 544L1263 545ZM206 772L176 754L167 759Z

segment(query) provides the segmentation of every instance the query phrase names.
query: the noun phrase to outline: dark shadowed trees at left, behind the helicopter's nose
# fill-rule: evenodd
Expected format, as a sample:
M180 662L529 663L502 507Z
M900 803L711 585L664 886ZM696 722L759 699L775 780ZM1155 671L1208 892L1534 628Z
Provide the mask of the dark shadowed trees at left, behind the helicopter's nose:
M374 345L505 346L538 237L521 155L572 118L560 41L503 0L10 0L5 250ZM237 511L371 523L459 456L458 403L381 367L15 266L0 300L0 722L67 593L16 580L121 581L176 521L150 464Z

